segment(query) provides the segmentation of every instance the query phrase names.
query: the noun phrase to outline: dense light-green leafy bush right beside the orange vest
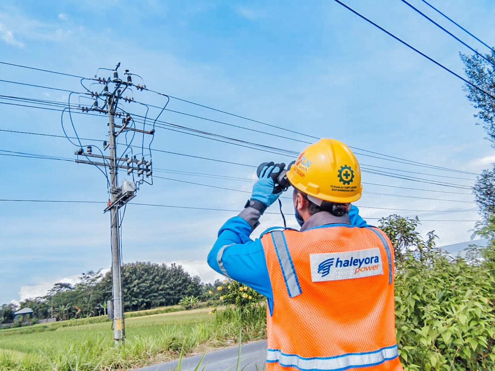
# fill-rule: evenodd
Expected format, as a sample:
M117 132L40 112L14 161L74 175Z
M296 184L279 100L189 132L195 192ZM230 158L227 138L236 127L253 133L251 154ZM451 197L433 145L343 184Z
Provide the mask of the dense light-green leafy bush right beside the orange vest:
M495 370L490 261L407 252L396 265L396 331L404 370Z

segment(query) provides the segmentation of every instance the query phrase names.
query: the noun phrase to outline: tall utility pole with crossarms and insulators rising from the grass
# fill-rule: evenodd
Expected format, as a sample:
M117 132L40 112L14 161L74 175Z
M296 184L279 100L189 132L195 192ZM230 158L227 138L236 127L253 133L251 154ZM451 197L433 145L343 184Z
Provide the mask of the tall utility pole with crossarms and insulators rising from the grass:
M75 152L78 156L85 156L87 160L80 160L79 157L76 159L77 163L92 164L99 167L106 167L109 169L110 179L109 183L109 197L107 207L104 212L110 211L110 233L111 233L111 252L112 252L112 300L110 310L112 313L113 320L113 338L115 340L115 345L118 346L125 338L125 325L124 325L124 300L122 297L122 277L121 277L121 246L120 246L120 226L119 226L119 209L129 202L132 198L136 196L136 184L143 183L143 178L150 177L152 174L151 169L151 158L149 160L145 159L142 153L142 159L138 160L136 156L131 154L128 157L117 156L117 141L116 138L119 134L125 133L127 131L134 131L143 134L153 135L154 130L146 131L136 129L130 124L133 120L129 113L125 113L123 110L118 109L119 100L124 100L125 102L131 103L134 98L128 98L127 96L122 96L121 94L130 87L135 87L137 90L146 89L144 85L134 85L132 83L131 74L129 70L126 70L127 81L121 80L118 77L117 69L120 63L113 70L113 79L108 78L96 78L94 81L99 84L103 84L102 92L91 92L91 96L95 97L95 103L92 107L81 107L83 112L97 111L99 113L104 113L108 115L108 143L103 141L103 151L108 149L109 155L104 154L94 154L92 146L87 146L87 151L85 152L83 148L79 148ZM113 84L113 89L110 89L110 84ZM104 97L104 98L103 98ZM103 101L104 104L99 108L99 100ZM122 117L122 125L115 124L115 117ZM118 131L115 131L118 129ZM127 146L127 149L130 148ZM103 153L103 152L102 152ZM93 161L91 158L102 159L102 162ZM107 160L107 161L105 161ZM123 163L123 164L120 164ZM137 166L135 166L137 164ZM138 182L125 181L122 182L122 186L118 185L118 169L126 169L127 175L133 176L134 172L137 172L137 176L142 179Z

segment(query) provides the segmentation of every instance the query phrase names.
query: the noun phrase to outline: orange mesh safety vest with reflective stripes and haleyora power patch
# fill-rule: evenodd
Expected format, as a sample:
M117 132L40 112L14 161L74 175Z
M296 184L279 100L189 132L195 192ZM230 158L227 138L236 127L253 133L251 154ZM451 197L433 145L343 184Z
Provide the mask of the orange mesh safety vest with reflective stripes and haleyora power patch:
M267 371L402 371L393 249L342 224L261 237L273 289Z

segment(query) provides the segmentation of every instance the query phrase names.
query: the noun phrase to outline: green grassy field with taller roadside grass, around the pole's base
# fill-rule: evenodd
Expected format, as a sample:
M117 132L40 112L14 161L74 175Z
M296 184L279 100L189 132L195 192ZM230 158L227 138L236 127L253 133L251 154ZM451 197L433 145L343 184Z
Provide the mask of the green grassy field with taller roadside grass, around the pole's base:
M129 318L126 341L119 347L113 343L111 322L76 325L72 321L71 326L30 333L4 330L0 331L0 370L107 371L145 366L177 358L181 350L200 353L234 344L240 331L243 340L263 338L264 315L264 307L256 306L249 311L209 314L206 308Z

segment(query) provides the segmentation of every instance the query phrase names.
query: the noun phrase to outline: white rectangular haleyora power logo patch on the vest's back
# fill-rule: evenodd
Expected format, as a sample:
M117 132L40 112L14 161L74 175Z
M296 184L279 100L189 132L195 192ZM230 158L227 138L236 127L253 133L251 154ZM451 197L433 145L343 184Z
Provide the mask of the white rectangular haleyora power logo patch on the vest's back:
M361 278L383 274L378 247L365 250L310 254L313 282Z

